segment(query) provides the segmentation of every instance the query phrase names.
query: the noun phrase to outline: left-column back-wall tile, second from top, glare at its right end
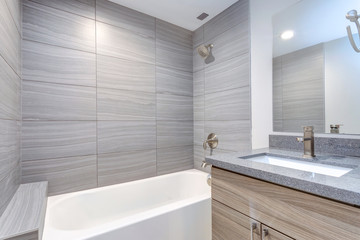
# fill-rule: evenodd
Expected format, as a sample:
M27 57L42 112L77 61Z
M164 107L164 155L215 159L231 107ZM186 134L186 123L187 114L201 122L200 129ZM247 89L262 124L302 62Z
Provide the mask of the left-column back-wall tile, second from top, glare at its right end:
M24 0L23 37L25 40L95 52L95 21Z

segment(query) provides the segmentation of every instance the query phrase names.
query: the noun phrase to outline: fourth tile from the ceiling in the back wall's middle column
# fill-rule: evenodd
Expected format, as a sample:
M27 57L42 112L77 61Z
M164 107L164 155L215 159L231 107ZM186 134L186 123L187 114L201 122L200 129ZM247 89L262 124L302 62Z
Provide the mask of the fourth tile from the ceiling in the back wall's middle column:
M98 120L155 120L155 93L97 89Z

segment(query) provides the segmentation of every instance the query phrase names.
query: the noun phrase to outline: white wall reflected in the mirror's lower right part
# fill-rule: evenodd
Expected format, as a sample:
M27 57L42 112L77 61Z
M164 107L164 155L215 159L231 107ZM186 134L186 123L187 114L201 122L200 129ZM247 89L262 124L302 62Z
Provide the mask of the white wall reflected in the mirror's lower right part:
M325 79L326 132L330 124L343 124L340 132L359 134L360 54L347 37L325 43Z

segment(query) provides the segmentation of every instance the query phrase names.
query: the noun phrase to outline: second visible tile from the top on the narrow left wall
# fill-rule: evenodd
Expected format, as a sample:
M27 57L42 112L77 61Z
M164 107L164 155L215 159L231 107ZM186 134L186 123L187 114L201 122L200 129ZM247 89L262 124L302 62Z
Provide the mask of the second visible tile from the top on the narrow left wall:
M0 55L20 75L21 36L5 0L0 1L0 23Z

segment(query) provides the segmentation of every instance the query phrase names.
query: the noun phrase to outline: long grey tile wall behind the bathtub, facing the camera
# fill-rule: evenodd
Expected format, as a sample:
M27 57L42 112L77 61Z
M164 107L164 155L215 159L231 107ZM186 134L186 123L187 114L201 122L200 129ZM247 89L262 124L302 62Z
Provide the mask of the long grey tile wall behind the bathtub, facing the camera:
M47 180L55 195L193 167L190 31L106 0L23 10L24 183Z

